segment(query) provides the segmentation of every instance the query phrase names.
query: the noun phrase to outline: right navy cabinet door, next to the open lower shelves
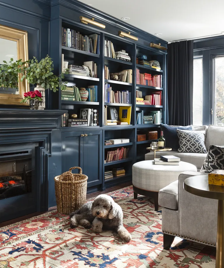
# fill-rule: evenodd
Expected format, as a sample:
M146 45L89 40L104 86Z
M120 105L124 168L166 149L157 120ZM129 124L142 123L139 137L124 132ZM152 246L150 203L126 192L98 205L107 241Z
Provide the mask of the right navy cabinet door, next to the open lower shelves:
M84 131L84 174L88 187L102 183L102 130Z

